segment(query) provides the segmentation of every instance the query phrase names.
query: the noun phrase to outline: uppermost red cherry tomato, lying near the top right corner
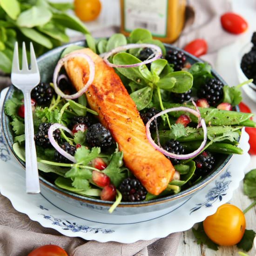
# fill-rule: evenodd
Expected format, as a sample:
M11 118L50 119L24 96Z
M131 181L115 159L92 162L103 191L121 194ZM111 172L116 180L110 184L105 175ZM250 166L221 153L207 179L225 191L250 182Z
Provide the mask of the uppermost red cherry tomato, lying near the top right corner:
M232 34L241 34L248 28L248 23L236 13L224 13L221 16L222 27Z

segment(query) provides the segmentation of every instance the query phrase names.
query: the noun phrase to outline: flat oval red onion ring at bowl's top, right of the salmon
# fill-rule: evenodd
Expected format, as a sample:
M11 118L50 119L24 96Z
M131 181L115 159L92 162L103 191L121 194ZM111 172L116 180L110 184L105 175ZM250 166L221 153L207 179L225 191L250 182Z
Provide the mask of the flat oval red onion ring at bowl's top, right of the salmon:
M133 49L133 48L151 48L153 50L153 54L155 55L153 58L142 61L135 64L129 64L129 65L115 65L113 63L110 63L108 61L108 58L112 56L113 54L119 53L124 50ZM123 46L116 47L115 49L111 50L110 52L103 55L103 60L108 64L109 67L139 67L144 64L151 63L152 61L155 61L159 59L162 56L162 50L159 46L156 46L154 44L127 44Z

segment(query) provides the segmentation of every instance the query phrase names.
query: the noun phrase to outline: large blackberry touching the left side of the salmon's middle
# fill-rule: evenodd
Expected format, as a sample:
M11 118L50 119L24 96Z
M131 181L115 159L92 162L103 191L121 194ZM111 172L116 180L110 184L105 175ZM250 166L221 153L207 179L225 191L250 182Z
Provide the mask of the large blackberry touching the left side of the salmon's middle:
M88 128L86 141L90 147L100 147L102 151L106 151L114 144L109 130L101 123L95 123Z

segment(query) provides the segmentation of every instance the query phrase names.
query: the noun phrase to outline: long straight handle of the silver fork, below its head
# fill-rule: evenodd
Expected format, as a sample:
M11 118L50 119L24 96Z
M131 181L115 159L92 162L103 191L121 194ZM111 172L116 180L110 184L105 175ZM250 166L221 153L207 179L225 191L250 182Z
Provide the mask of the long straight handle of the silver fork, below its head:
M31 107L31 91L25 91L25 147L26 147L26 191L28 194L40 193L36 150L34 143L34 125Z

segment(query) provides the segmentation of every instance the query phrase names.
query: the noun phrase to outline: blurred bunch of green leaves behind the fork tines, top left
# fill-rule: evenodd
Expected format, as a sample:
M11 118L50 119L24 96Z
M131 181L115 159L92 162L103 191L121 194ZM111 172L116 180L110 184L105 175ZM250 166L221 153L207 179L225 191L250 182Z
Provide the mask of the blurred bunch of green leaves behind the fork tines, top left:
M66 13L70 3L51 3L47 0L0 1L0 70L11 72L15 41L32 41L37 56L48 49L66 43L66 28L89 34L83 23ZM21 53L21 49L20 49Z

